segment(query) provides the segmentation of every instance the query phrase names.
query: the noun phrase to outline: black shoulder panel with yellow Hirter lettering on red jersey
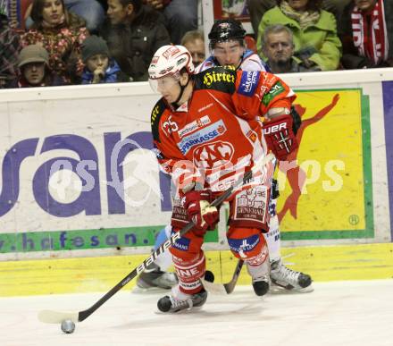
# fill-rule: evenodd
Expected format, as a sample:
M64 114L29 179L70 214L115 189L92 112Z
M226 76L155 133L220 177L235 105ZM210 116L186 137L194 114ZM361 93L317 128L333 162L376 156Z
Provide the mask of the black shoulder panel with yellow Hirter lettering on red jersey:
M213 89L229 94L235 92L236 71L232 66L218 66L195 75L195 89Z

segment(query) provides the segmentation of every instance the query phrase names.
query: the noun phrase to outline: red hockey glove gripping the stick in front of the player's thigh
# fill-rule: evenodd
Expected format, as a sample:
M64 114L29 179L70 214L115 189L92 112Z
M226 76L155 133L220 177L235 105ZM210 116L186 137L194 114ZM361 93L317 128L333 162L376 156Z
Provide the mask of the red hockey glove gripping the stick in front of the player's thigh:
M184 207L196 224L197 230L213 230L219 221L219 213L216 207L210 207L213 200L211 190L191 190L186 193Z

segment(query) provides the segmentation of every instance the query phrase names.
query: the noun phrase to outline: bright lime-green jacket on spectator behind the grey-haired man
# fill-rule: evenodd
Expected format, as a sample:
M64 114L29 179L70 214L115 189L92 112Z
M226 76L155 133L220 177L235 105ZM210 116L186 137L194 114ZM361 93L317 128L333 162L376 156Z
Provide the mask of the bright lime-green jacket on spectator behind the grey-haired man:
M341 41L337 34L337 23L334 15L322 10L319 21L305 30L300 29L297 21L281 12L279 6L263 14L258 28L256 48L262 53L263 32L270 25L285 25L293 32L295 56L300 60L306 58L316 63L322 71L333 71L339 67L341 57Z

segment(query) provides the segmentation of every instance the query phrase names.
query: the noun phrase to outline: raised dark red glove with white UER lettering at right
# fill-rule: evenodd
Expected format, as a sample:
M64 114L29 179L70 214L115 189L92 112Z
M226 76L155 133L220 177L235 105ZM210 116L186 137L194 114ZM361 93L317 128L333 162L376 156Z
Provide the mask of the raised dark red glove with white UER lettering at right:
M263 122L263 135L267 146L280 161L285 161L287 156L298 147L292 122L289 114L280 115L270 122Z

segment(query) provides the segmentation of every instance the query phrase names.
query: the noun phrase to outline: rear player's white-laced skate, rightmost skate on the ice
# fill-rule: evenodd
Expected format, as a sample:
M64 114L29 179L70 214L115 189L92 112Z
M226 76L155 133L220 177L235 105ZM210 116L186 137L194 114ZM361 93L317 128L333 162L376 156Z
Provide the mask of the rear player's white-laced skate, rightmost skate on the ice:
M271 263L271 279L274 285L288 291L313 291L312 279L308 274L297 272L284 266L281 259Z

